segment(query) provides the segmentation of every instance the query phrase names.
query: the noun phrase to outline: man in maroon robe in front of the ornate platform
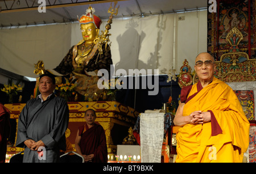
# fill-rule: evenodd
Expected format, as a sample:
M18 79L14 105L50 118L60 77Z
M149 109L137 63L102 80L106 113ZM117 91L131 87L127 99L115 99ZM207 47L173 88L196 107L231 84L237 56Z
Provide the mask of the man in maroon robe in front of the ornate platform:
M106 135L101 125L96 124L96 113L93 109L85 111L86 124L77 131L75 148L84 157L85 162L108 162Z

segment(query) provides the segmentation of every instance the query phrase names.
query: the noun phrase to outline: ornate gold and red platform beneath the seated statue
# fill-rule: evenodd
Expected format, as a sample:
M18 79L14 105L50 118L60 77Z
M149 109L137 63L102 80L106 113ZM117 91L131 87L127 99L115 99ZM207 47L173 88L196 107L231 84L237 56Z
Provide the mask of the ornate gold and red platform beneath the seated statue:
M18 123L19 114L25 103L5 104L10 110L10 118ZM117 153L117 145L122 145L123 137L126 137L129 128L134 126L139 112L135 109L123 105L117 101L88 101L88 102L68 102L69 124L66 137L71 142L75 150L75 138L79 126L85 124L84 113L87 109L96 111L96 123L100 124L106 134L108 154ZM18 125L18 124L17 124ZM7 154L17 154L23 151L20 147L7 147Z

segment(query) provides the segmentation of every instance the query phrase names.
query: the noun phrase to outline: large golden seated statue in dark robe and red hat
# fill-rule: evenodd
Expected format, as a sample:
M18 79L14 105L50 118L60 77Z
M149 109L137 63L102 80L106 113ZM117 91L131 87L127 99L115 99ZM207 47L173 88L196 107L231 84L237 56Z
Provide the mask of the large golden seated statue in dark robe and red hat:
M83 40L69 49L68 54L55 69L48 69L45 72L67 79L72 77L69 82L76 84L75 90L85 97L85 101L89 98L98 100L102 96L104 90L97 87L98 70L106 69L110 72L110 65L113 64L110 46L107 43L98 43L101 19L93 12L94 9L89 7L86 15L79 18Z

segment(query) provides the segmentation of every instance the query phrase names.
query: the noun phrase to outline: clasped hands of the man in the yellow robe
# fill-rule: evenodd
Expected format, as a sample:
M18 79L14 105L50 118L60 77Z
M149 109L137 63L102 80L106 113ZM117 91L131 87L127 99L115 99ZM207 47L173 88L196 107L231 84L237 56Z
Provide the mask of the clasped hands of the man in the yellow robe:
M191 124L203 124L210 121L210 112L194 111L188 117Z

